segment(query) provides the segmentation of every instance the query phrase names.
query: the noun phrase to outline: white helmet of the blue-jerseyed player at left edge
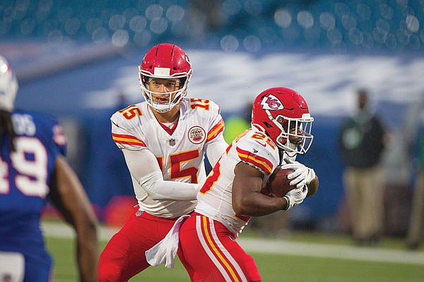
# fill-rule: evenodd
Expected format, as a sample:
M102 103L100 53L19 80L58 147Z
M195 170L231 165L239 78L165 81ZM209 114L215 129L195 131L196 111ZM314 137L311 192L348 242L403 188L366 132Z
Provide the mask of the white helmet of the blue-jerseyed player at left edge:
M18 80L3 56L0 56L0 110L13 111Z

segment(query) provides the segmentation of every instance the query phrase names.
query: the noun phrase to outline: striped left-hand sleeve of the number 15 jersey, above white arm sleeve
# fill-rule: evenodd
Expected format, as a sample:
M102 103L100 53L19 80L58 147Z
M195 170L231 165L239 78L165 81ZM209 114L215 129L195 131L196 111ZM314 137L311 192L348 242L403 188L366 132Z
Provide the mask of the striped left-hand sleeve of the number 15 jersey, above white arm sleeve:
M117 111L112 115L110 121L112 123L112 139L119 149L139 151L147 147L141 131L141 121L137 116L129 119Z

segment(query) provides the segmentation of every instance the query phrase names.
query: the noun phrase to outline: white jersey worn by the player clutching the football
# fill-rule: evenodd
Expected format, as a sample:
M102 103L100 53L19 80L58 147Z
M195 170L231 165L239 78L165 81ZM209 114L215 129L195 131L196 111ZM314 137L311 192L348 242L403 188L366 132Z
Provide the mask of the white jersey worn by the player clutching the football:
M282 159L294 161L285 153ZM220 221L228 230L237 235L247 225L250 216L235 214L232 209L232 181L235 178L235 166L240 161L259 169L264 174L262 186L279 164L278 147L264 133L249 129L237 137L220 158L206 182L197 194L198 204L195 211Z

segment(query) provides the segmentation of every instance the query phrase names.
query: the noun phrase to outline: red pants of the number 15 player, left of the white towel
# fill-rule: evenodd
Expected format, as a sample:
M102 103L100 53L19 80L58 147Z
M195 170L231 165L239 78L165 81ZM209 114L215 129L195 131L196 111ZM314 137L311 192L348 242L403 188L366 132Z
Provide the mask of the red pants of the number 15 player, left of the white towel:
M176 219L164 219L143 212L136 216L138 207L113 235L98 263L99 282L121 282L139 274L150 264L146 261L146 250L156 245L170 231Z

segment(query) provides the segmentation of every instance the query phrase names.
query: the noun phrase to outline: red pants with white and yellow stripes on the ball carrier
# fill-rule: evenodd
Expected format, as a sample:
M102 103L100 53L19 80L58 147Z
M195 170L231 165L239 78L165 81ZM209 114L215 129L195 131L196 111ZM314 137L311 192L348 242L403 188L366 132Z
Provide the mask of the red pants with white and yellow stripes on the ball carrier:
M261 281L254 259L228 228L198 213L179 229L179 259L192 281Z

